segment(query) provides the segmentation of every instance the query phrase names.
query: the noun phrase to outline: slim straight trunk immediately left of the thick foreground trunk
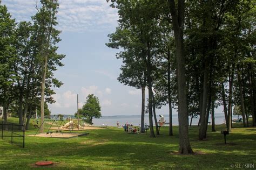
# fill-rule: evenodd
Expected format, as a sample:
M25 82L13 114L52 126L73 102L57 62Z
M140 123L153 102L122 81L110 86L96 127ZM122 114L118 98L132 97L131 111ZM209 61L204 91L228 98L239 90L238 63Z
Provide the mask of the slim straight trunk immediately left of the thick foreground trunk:
M169 104L169 136L173 136L172 130L172 100L171 100L171 63L170 63L170 51L168 51L168 104Z

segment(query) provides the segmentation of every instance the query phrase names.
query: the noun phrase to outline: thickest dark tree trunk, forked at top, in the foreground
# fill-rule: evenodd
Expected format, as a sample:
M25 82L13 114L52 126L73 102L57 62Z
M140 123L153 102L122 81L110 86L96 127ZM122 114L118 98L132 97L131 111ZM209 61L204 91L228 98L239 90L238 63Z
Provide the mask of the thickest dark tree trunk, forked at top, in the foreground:
M178 79L178 121L179 121L179 153L193 154L188 137L187 96L185 80L185 56L184 56L184 13L185 1L178 1L178 11L174 0L169 0L169 8L172 16L172 25L176 45L177 79Z

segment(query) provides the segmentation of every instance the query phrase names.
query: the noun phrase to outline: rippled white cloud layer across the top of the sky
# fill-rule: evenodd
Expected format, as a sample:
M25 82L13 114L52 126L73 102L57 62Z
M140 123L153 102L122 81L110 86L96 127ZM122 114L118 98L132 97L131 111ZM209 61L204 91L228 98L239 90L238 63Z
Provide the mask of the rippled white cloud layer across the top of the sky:
M3 0L18 21L35 15L39 0ZM117 26L118 13L105 0L59 0L59 29L70 32L101 31Z

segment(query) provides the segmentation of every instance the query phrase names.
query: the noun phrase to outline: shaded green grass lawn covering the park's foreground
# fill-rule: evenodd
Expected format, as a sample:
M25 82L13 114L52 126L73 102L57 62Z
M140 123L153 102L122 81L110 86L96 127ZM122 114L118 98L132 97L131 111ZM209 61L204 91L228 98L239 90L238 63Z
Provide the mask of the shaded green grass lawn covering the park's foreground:
M17 122L11 118L9 121ZM216 132L208 126L206 141L198 140L198 126L190 128L191 146L204 154L179 155L178 127L168 136L168 127L160 136L127 134L122 129L86 130L87 136L58 139L25 137L25 148L0 139L0 169L33 169L36 161L51 160L57 169L228 169L232 164L254 164L256 168L256 128L234 124L224 145L224 125ZM26 131L35 134L36 129ZM174 152L174 153L173 153ZM45 167L44 167L45 169Z

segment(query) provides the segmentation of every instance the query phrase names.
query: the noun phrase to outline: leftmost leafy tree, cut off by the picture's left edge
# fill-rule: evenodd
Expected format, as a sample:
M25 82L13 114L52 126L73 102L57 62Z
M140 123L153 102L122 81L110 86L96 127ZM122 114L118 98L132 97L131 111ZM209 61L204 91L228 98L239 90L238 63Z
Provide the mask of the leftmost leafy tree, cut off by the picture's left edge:
M12 101L12 72L16 58L14 48L15 20L6 6L0 4L0 105L4 107L3 117L7 122L7 111Z

